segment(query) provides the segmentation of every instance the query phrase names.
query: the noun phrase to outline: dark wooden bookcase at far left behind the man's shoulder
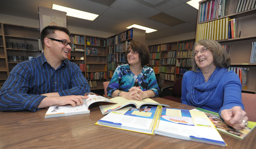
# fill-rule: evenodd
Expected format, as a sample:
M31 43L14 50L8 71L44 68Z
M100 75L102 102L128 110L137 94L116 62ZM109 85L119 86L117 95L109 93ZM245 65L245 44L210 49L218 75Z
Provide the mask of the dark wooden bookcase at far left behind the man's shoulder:
M17 63L41 55L38 48L38 28L1 23L0 29L0 85Z

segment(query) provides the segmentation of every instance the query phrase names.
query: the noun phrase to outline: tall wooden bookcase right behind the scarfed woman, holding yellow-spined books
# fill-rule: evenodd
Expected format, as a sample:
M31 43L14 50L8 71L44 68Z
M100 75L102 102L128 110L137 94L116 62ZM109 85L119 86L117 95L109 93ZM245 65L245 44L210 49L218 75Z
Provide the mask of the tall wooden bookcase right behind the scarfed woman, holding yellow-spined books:
M243 88L242 91L256 93L256 63L250 63L252 42L256 41L255 4L249 8L249 4L246 7L246 4L241 4L241 0L224 0L225 6L221 7L222 15L220 17L208 17L208 20L202 21L201 16L205 13L200 8L204 4L211 3L211 1L202 0L199 2L196 41L210 39L218 41L223 46L228 46L231 67L249 68L247 88ZM212 26L212 30L208 29L208 26L210 28L211 24L216 24L215 26L217 27Z

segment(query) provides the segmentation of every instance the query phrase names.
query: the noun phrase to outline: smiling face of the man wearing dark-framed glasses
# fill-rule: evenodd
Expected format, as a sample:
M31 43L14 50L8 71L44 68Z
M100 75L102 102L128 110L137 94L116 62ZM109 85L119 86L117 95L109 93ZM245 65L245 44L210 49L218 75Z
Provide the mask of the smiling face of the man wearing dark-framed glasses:
M70 43L69 36L63 32L56 30L54 32L54 37L58 40L65 40ZM51 40L51 54L59 60L66 60L68 59L68 53L71 51L71 47L69 45L65 46L62 42Z

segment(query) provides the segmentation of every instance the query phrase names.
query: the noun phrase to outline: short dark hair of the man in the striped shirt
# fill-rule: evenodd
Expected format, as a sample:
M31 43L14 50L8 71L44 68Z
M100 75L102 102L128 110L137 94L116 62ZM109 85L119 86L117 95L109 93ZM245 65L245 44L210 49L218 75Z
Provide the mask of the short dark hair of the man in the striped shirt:
M41 43L42 43L42 47L44 49L44 38L46 37L52 37L52 35L54 34L55 30L58 30L58 31L63 31L65 32L68 36L70 35L70 32L67 28L65 27L61 27L61 26L46 26L42 32L41 32Z

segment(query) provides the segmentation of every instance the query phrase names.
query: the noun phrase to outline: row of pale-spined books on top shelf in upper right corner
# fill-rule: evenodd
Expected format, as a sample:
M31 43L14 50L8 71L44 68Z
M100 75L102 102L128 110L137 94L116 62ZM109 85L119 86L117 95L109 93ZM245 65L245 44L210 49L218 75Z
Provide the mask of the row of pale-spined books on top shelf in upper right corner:
M256 8L255 2L256 0L239 0L236 13Z

